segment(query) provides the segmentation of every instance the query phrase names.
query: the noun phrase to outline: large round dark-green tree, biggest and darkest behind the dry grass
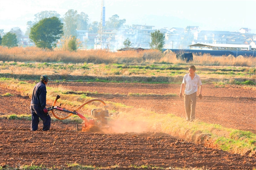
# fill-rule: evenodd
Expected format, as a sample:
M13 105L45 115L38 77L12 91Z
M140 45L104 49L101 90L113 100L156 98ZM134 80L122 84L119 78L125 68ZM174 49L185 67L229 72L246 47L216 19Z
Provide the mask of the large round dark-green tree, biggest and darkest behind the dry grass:
M45 18L36 23L30 31L30 39L39 48L56 47L63 34L63 23L57 17Z

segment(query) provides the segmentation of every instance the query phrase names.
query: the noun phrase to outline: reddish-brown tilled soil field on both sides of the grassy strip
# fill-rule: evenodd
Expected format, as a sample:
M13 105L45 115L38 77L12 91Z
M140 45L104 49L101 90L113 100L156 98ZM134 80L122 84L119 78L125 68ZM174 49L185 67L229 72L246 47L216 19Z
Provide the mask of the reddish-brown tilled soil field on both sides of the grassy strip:
M139 83L50 82L47 86L64 86L70 91L98 92L95 98L144 108L157 113L184 117L183 99L164 94L178 94L180 85ZM0 114L29 113L30 96L0 88ZM105 95L103 93L107 93ZM157 94L147 97L129 93ZM256 133L256 91L239 86L203 85L203 99L197 102L196 119L224 127ZM50 103L49 103L50 105ZM68 169L68 164L93 165L105 169L148 169L162 167L201 167L207 170L253 170L256 158L231 154L157 132L92 133L71 131L75 124L52 122L51 130L43 132L42 122L36 132L30 131L26 120L0 119L0 166L20 167L42 165L52 169ZM112 166L112 167L111 167ZM116 167L113 167L116 166ZM151 167L151 168L150 168ZM141 168L142 169L142 168Z

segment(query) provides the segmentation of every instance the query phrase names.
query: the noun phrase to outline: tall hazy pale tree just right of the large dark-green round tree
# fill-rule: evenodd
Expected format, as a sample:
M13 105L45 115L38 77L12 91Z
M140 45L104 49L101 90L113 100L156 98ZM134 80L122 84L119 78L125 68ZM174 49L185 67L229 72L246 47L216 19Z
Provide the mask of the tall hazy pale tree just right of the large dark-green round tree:
M74 11L73 9L68 10L64 15L63 22L64 36L69 37L71 35L77 37L77 11Z

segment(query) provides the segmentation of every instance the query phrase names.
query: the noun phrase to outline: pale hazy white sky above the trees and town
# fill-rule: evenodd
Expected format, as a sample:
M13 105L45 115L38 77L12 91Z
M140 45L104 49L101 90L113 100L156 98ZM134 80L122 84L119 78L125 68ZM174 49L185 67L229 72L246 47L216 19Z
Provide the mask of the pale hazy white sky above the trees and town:
M88 14L100 22L102 0L0 0L0 29L26 31L41 11L56 11L61 17L69 10ZM239 31L250 28L256 34L256 0L104 0L105 18L114 14L127 25L167 27L199 26L201 30Z

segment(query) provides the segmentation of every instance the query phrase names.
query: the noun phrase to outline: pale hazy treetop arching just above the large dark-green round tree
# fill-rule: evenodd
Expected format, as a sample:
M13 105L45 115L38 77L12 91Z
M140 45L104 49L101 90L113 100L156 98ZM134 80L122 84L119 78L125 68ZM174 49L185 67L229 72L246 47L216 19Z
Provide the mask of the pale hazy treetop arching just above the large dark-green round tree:
M51 18L51 17L57 17L61 20L61 15L58 14L56 11L41 11L40 13L35 14L35 20L28 21L27 22L27 28L26 28L26 33L25 35L29 35L30 33L30 28L34 26L36 23L38 23L40 20L43 20L45 18Z

